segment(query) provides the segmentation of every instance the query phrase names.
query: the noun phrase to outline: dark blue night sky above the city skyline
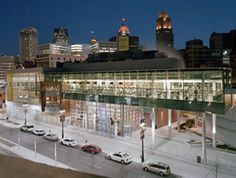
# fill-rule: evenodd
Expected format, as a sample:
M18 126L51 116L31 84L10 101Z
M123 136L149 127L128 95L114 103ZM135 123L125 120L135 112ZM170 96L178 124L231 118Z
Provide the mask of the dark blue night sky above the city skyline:
M126 18L131 35L155 48L155 23L161 11L172 19L175 48L199 38L208 45L210 34L236 28L235 0L8 0L1 1L0 54L19 53L19 31L38 30L39 44L52 41L55 27L65 27L69 43L89 43L91 31L98 41L115 35Z

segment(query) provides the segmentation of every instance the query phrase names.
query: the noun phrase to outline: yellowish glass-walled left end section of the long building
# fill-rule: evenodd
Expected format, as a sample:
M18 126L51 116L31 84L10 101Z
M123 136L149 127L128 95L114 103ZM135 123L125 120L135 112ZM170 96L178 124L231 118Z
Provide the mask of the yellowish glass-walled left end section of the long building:
M42 68L13 69L7 71L7 115L15 119L40 119L40 82L44 81ZM24 108L26 107L26 109Z

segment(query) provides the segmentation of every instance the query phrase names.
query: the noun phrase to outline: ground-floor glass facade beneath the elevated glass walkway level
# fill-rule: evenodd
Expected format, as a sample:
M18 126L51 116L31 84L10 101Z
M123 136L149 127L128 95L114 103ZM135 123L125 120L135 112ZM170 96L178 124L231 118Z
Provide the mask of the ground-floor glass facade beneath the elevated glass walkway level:
M143 108L100 102L70 100L71 125L87 130L130 136L144 117Z

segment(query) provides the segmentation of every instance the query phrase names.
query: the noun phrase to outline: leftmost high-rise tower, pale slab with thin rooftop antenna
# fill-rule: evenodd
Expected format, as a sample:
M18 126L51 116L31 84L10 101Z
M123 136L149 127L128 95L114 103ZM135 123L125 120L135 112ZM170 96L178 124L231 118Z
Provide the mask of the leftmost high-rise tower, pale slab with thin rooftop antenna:
M20 31L20 62L35 64L38 53L38 33L33 27Z

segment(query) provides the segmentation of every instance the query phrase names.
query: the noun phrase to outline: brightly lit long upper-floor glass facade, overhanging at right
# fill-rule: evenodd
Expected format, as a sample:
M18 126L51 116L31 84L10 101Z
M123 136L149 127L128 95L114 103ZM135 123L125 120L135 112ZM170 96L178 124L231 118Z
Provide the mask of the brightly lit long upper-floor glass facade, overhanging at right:
M225 109L224 95L231 87L230 74L230 69L217 68L51 73L45 77L48 81L62 82L62 93L66 99L86 100L89 96L89 101L98 97L98 101L104 103L213 111L211 108L217 105ZM209 107L211 105L214 107Z

